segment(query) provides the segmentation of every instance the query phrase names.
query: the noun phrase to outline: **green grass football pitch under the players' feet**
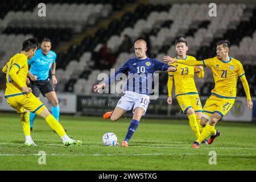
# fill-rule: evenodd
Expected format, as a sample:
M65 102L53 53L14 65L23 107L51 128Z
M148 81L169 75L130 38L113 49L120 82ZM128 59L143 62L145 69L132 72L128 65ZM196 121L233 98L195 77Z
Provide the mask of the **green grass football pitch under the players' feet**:
M256 125L218 123L221 136L209 146L192 148L188 121L142 119L129 147L104 146L102 135L111 131L121 144L130 118L111 122L100 117L60 117L67 134L82 140L80 147L62 144L47 123L36 117L32 138L38 145L24 146L18 114L0 114L0 170L256 170ZM39 165L39 151L46 165ZM209 152L217 164L209 164Z

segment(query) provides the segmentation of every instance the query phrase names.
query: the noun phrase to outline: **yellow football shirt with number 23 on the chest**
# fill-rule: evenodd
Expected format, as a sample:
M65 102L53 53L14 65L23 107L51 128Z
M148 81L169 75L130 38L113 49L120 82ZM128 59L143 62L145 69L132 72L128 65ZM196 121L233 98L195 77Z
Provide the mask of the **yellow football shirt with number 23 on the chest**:
M177 57L175 59L178 59ZM184 60L196 60L193 56L186 56ZM180 94L198 94L195 84L195 73L203 72L203 70L197 69L194 66L189 66L180 63L169 64L174 66L176 72L168 72L168 76L174 77L175 83L175 95Z

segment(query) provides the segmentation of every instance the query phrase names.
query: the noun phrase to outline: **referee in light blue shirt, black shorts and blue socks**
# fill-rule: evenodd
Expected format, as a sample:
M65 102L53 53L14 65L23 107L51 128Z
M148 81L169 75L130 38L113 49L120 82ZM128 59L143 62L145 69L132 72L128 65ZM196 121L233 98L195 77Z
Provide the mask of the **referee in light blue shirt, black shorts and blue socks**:
M35 56L28 60L30 71L28 77L30 78L32 93L39 98L40 92L52 104L52 115L57 121L60 117L59 101L56 92L49 81L49 70L51 70L52 82L57 84L55 76L56 68L56 53L51 51L51 40L44 38L42 40L41 48L35 52ZM32 132L33 123L36 114L30 113L30 130ZM67 131L67 130L65 130Z

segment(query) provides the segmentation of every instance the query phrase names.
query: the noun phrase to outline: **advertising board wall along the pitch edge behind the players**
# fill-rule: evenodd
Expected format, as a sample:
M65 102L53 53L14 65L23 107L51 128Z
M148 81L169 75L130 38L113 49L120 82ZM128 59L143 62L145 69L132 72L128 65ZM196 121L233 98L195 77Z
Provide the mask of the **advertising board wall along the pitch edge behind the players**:
M102 113L113 110L120 96L111 95L76 95L68 93L58 93L60 112L63 114L76 114L76 115L95 115L102 116ZM204 105L208 97L201 97L201 103ZM51 103L47 98L40 96L40 100L51 110ZM253 100L254 106L256 99ZM4 92L0 92L0 111L13 111L4 96ZM131 117L131 111L126 113L125 116ZM173 100L172 105L166 102L166 96L159 96L157 100L151 100L148 106L146 118L170 118L170 119L185 119L187 116L181 113L180 106L177 100ZM238 122L251 122L256 120L256 109L253 112L249 111L246 106L245 97L237 97L236 103L225 115L223 121L238 121Z

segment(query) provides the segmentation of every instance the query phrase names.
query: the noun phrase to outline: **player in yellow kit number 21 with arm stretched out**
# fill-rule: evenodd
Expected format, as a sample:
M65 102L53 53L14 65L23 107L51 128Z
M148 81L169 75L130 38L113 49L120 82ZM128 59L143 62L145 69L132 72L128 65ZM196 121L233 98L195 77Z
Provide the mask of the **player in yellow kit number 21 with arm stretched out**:
M236 101L237 94L237 79L242 81L243 89L246 93L246 105L249 110L253 109L251 101L250 89L245 77L245 71L240 61L229 56L230 43L228 40L221 40L216 44L217 56L197 61L197 60L176 60L170 56L164 56L165 61L169 63L181 63L185 65L203 65L212 69L215 82L211 96L207 99L203 115L201 117L201 125L205 126L200 137L193 143L193 148L199 148L201 142L211 134L208 144L211 144L214 139L220 136L220 131L216 131L215 125L221 117L232 108Z

